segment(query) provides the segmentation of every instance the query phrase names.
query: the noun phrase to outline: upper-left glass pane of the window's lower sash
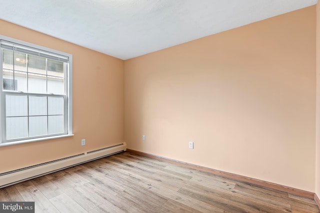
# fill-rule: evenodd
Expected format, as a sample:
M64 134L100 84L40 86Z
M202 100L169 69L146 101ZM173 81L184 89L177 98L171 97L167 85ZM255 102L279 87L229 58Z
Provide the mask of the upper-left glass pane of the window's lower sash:
M26 95L5 95L5 115L27 116L27 96Z

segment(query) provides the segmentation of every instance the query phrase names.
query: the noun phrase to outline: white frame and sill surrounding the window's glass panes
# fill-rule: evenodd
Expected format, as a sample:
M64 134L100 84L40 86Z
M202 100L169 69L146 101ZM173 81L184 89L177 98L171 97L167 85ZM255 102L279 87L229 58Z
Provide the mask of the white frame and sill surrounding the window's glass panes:
M53 56L55 55L61 55L62 57L68 58L68 68L66 69L66 74L65 74L65 107L64 107L64 119L67 121L64 122L66 125L64 125L64 133L62 134L56 134L56 135L47 135L47 136L39 136L39 137L29 137L29 138L24 138L24 139L16 139L16 140L7 140L4 141L2 137L3 131L5 131L4 123L2 122L3 119L5 119L5 94L24 94L24 95L39 95L39 94L32 94L32 93L20 93L18 91L13 91L13 90L6 90L3 91L3 63L2 63L2 50L0 48L0 70L1 70L1 95L0 95L0 147L1 146L7 146L7 145L13 145L13 144L20 144L20 143L28 143L28 142L34 142L34 141L42 141L42 140L49 140L49 139L55 139L55 138L62 138L62 137L69 137L73 136L72 134L72 55L69 53L61 52L58 50L50 49L47 47L43 47L40 45L32 44L29 42L17 40L14 38L10 38L7 36L0 35L0 41L8 41L11 43L18 44L20 46L24 47L30 47L30 50L32 51L38 51L39 55L42 53L45 54L52 54ZM0 42L1 43L1 42ZM45 94L44 94L45 95ZM49 96L52 96L52 94L46 94ZM49 97L47 96L47 97ZM54 95L53 95L54 96Z

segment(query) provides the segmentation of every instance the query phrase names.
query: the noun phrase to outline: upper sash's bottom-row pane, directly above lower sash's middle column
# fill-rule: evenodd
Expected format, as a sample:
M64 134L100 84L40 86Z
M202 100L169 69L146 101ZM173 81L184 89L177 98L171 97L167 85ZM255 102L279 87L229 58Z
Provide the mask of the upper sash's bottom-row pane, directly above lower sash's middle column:
M30 92L30 93L46 93L46 77L45 77L45 75L28 73L28 92Z

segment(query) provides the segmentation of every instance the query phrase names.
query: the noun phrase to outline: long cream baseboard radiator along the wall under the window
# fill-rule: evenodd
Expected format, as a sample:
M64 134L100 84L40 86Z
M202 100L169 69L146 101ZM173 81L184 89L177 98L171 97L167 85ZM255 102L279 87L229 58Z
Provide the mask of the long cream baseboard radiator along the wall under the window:
M126 151L125 142L79 155L0 174L0 188Z

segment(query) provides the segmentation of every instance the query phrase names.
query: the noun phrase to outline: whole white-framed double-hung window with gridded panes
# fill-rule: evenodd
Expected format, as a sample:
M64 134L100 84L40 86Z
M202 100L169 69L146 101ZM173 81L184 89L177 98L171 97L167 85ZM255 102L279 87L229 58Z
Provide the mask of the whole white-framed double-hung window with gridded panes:
M72 56L4 36L0 47L0 145L72 135Z

